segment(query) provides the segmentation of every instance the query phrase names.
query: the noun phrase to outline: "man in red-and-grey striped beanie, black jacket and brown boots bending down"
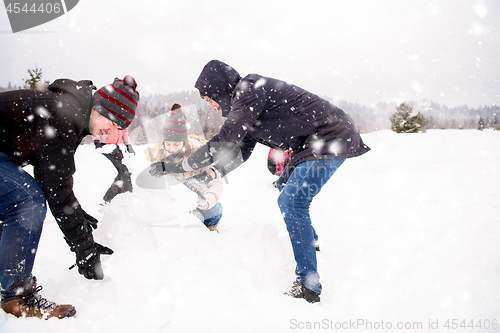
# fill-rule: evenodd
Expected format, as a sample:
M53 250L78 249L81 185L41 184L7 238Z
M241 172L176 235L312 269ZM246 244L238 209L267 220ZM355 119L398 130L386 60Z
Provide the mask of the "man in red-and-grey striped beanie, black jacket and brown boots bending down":
M16 317L70 317L71 305L40 295L31 275L47 211L76 255L78 272L103 279L100 255L112 250L94 242L97 220L73 193L74 155L89 135L130 125L139 101L131 76L99 89L91 81L59 79L48 91L0 94L0 292L1 307ZM22 167L33 166L34 178Z

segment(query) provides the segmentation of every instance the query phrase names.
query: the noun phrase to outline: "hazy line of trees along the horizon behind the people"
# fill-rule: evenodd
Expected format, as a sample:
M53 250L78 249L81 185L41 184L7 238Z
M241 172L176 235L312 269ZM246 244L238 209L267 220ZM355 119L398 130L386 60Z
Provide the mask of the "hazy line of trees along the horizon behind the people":
M41 68L28 69L29 77L23 79L24 86L17 87L9 82L7 87L0 86L0 92L15 89L38 89L46 90L49 81L42 81L43 71ZM359 103L334 100L328 96L322 96L334 105L344 110L354 121L361 133L373 132L382 129L394 130L394 117L401 113L401 108L410 107L408 119L414 112L413 119L420 117L420 121L425 118L425 125L418 126L419 131L425 129L495 129L500 130L500 106L479 106L469 107L466 104L455 107L448 107L443 104L429 100L408 101L397 104L395 102L379 102L373 105L362 105ZM160 131L162 126L162 116L168 112L175 103L183 107L188 121L191 125L190 132L196 135L203 135L210 139L218 133L224 119L218 112L213 112L210 105L206 103L196 90L177 91L165 94L154 94L141 96L137 108L137 116L129 127L129 132L134 132L132 139L138 143L149 142L151 129L145 130L147 123L154 123L158 127L155 131ZM401 116L401 114L399 114ZM403 115L404 116L404 115ZM423 117L423 118L422 118ZM401 120L398 120L401 121ZM406 122L406 120L403 120ZM151 126L149 126L151 128ZM142 133L141 133L142 132ZM149 132L149 133L147 133Z

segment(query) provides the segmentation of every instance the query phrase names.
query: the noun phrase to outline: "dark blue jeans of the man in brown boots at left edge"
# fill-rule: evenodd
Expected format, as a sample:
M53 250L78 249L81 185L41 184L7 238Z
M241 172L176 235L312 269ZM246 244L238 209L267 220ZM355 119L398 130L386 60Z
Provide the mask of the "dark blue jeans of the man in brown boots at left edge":
M29 282L47 213L40 184L0 152L0 293Z

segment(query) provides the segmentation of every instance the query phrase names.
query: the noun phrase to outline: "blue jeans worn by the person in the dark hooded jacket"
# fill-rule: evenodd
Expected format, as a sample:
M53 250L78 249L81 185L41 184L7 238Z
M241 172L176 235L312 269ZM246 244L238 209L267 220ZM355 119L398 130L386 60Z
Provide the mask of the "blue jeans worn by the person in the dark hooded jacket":
M286 169L276 185L281 192L278 205L292 243L297 281L321 294L316 261L315 241L318 239L309 216L313 198L344 163L344 159L312 160L295 167L285 183Z

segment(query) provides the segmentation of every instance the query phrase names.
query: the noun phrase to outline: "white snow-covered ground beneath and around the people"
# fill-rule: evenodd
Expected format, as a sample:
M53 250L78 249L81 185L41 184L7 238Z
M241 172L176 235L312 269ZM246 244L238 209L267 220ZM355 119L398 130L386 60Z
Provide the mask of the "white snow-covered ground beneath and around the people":
M102 257L105 279L68 270L74 254L49 215L34 275L44 297L77 315L1 312L0 332L499 331L500 132L384 130L363 140L372 151L348 160L311 208L320 304L283 296L295 264L267 148L228 176L215 233L189 214L195 197L182 185L136 186L100 207L115 170L80 147L76 195L100 220L95 239L115 251ZM137 175L148 163L135 148L127 163Z

